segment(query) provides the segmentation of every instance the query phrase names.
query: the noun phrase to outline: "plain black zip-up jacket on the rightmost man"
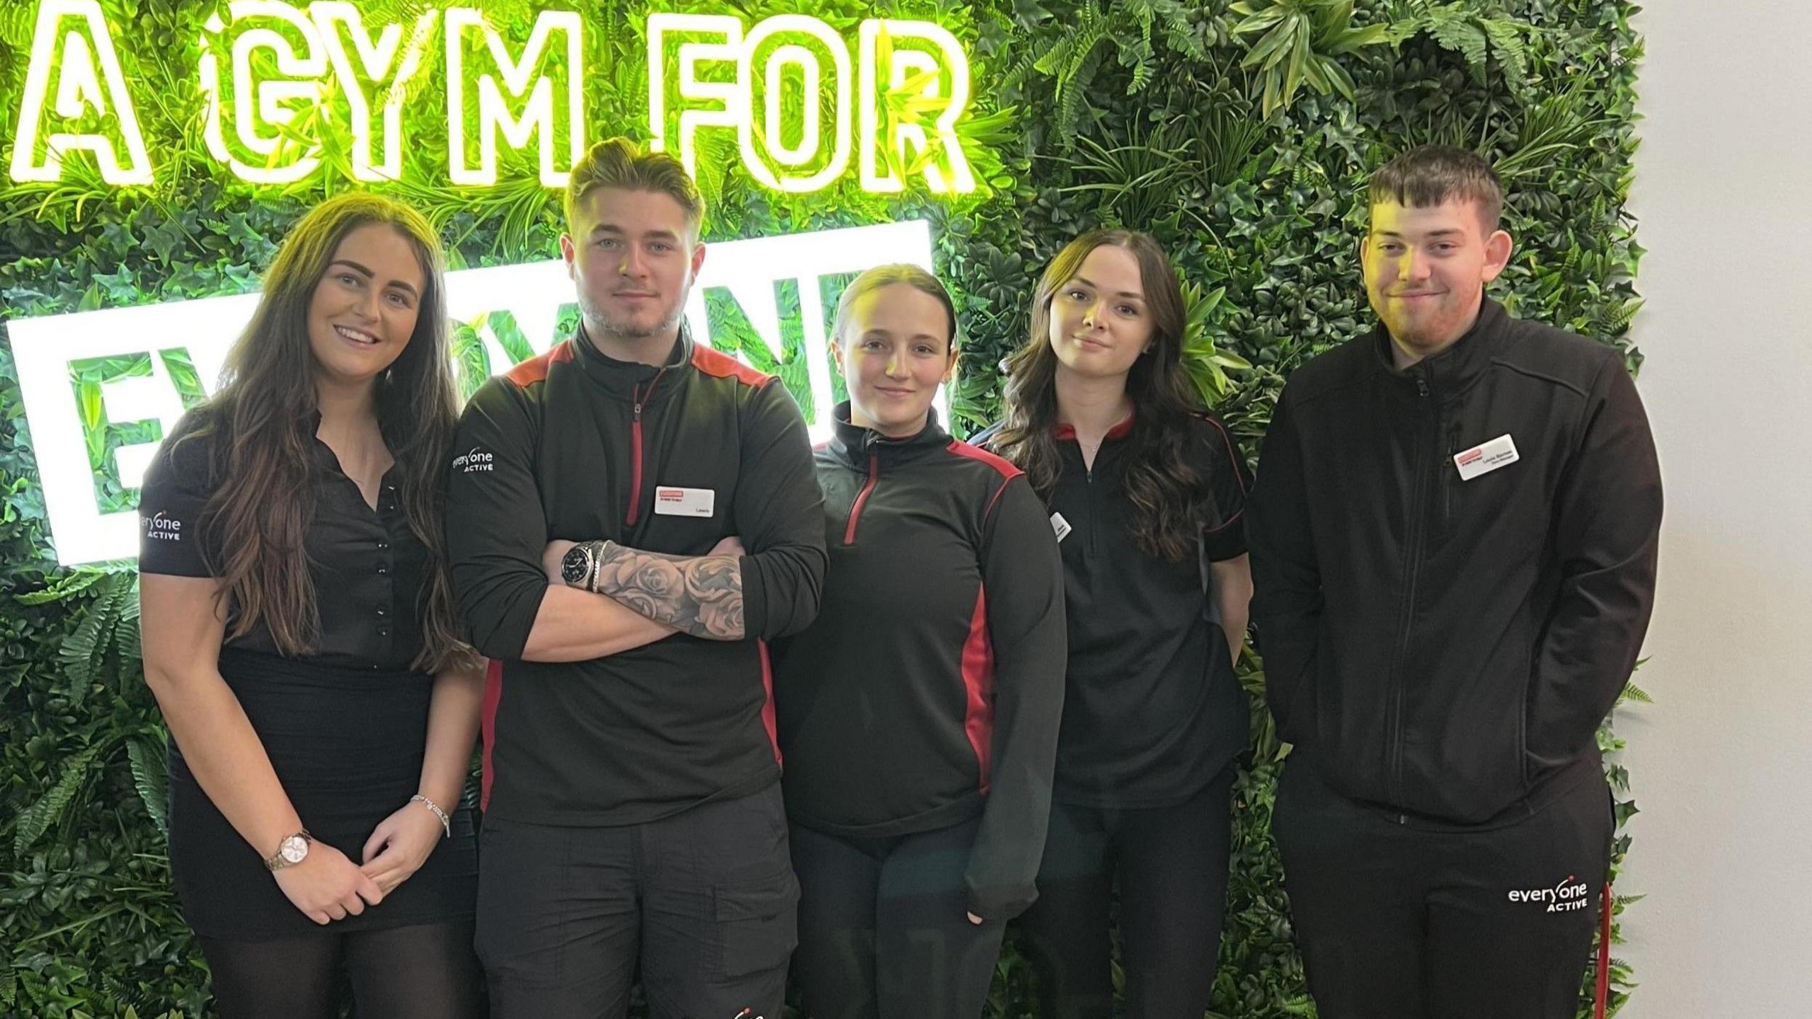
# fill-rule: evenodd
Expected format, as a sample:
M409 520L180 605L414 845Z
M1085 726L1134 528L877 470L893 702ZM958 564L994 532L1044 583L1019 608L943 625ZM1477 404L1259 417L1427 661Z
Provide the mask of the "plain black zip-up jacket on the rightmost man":
M1616 350L1495 301L1406 372L1390 343L1277 401L1248 511L1267 694L1334 791L1508 823L1598 769L1653 606L1654 441ZM1518 459L1462 480L1500 435Z

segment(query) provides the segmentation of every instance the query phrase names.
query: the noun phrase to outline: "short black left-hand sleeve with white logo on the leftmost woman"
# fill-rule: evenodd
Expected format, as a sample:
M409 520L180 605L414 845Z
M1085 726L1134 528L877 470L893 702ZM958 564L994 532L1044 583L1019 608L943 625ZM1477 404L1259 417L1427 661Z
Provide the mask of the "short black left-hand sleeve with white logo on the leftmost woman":
M201 426L183 415L163 437L138 490L138 571L169 577L214 577L201 548L201 510L214 493L212 435L187 439Z

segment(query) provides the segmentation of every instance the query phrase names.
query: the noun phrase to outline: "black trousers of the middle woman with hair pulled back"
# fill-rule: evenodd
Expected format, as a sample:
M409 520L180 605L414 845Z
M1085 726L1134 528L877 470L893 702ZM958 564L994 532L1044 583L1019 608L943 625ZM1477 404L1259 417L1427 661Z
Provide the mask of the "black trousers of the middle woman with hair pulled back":
M980 818L897 838L794 825L799 952L812 1019L977 1019L1006 921L968 919Z

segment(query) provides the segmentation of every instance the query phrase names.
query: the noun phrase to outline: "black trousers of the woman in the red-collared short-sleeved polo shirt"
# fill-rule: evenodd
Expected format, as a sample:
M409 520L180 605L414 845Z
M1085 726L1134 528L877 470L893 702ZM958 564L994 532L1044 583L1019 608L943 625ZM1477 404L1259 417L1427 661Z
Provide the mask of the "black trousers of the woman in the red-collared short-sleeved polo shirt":
M1176 807L1053 803L1038 901L1020 917L1042 1019L1114 1014L1109 923L1120 885L1127 1019L1201 1019L1227 917L1232 769Z

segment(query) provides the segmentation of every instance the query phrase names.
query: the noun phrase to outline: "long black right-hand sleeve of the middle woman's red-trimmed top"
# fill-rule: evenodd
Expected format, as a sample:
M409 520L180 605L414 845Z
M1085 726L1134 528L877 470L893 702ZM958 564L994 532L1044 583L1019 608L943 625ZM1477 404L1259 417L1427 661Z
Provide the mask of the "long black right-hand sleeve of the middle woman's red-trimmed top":
M1064 714L1064 562L1044 504L1007 479L982 531L982 597L995 656L995 731L982 827L964 885L969 912L1011 919L1038 898L1033 879L1051 820Z

